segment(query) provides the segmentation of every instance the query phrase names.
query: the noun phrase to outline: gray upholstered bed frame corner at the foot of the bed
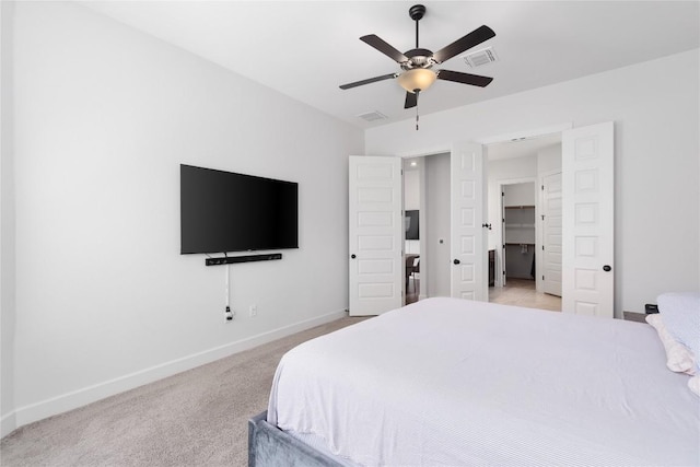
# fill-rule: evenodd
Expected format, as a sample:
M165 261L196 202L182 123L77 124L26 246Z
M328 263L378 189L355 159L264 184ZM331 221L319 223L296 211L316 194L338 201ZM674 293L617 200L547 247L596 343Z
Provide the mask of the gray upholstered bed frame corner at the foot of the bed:
M248 467L342 467L342 465L268 423L266 410L248 420Z

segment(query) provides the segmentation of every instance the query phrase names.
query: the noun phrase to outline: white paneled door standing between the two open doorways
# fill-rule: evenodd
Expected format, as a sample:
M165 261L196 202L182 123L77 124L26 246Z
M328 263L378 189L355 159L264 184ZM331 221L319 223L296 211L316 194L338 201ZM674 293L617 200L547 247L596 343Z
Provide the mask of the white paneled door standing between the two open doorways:
M488 301L489 276L482 225L487 196L482 154L481 145L470 142L456 143L451 153L451 295Z

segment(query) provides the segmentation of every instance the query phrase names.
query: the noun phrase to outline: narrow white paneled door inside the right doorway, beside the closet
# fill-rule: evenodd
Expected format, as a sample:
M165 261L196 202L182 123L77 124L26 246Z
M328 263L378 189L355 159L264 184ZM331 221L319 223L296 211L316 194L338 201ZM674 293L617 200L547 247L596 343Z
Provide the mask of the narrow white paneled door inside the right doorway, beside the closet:
M542 292L561 296L561 172L542 177Z

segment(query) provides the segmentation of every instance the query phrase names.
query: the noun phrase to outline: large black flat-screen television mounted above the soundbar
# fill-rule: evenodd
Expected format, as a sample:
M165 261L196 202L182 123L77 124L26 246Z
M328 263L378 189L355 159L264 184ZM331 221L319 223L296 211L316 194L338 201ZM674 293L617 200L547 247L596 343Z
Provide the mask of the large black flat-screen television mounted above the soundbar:
M299 248L299 185L180 164L180 254Z

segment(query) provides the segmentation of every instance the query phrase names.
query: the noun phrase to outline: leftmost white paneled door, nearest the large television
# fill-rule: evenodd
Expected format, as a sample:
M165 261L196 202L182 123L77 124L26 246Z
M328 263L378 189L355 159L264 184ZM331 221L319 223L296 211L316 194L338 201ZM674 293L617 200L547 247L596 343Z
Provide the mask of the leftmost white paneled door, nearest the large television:
M402 304L401 160L351 155L349 185L350 315L378 315Z

